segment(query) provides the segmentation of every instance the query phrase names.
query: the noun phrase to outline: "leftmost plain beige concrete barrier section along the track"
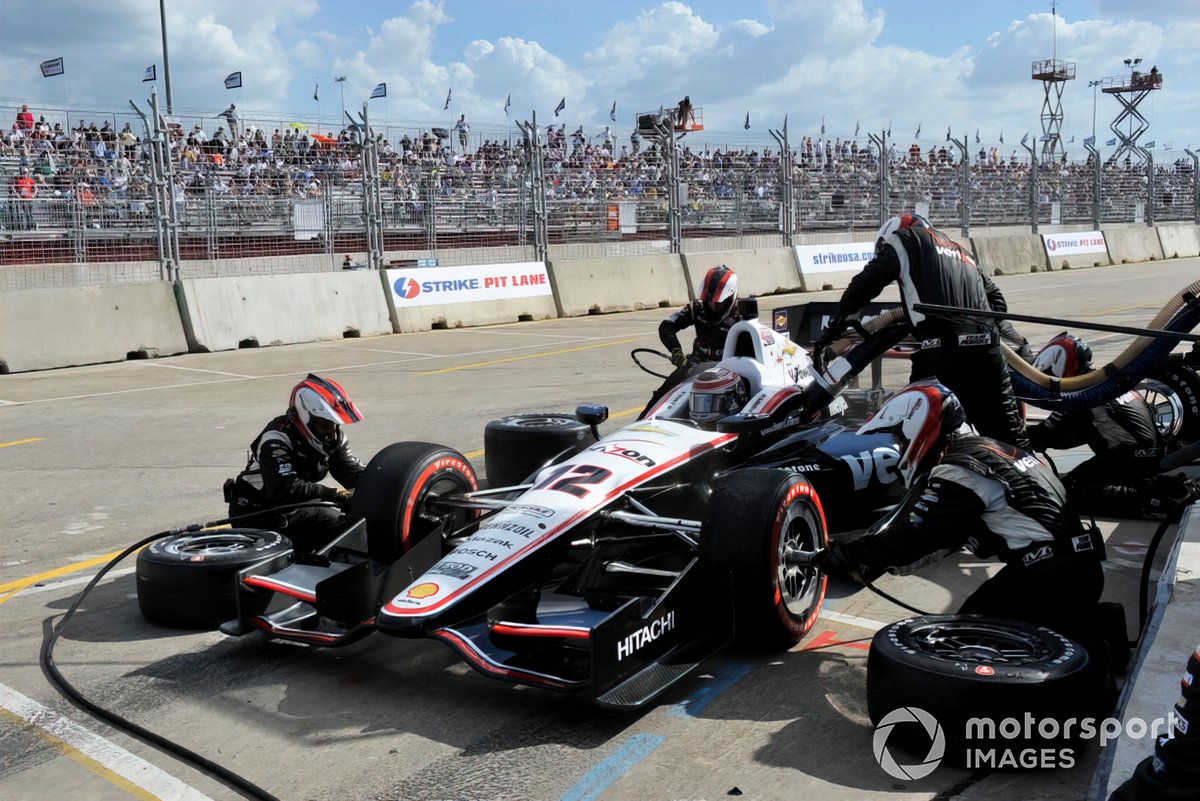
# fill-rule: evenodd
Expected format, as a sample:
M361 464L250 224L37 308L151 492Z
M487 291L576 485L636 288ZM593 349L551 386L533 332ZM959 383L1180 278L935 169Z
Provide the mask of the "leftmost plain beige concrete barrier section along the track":
M0 293L0 362L12 372L186 350L166 282Z

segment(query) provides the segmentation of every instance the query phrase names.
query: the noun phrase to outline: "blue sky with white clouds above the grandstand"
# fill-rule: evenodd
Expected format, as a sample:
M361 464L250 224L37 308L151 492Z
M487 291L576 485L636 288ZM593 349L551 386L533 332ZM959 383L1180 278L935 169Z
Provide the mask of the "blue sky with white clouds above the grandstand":
M1087 80L1124 72L1140 56L1164 73L1164 89L1141 110L1144 138L1176 151L1200 145L1200 2L1196 0L1063 0L1049 2L925 0L746 0L653 2L606 0L167 0L176 112L211 115L238 102L246 116L312 122L320 83L325 127L346 103L372 101L376 121L448 125L443 109L466 114L476 132L511 130L512 119L584 125L599 131L618 104L618 132L638 110L690 95L703 109L708 144L768 143L768 127L788 115L791 131L863 135L890 122L899 139L919 125L922 144L979 130L985 143L1004 132L1040 133L1042 86L1034 59L1055 53L1076 64L1066 85L1063 138L1092 132L1094 92ZM127 112L160 65L155 0L4 0L0 2L0 104ZM1052 23L1057 22L1057 28ZM66 76L42 78L37 64L66 58ZM245 85L221 79L240 70ZM346 76L344 85L334 83ZM163 82L157 84L163 95ZM560 97L566 112L553 118ZM1096 95L1097 138L1120 110ZM749 112L751 130L744 131ZM508 126L508 127L506 127ZM1081 155L1079 144L1076 155ZM1180 153L1176 153L1180 155Z

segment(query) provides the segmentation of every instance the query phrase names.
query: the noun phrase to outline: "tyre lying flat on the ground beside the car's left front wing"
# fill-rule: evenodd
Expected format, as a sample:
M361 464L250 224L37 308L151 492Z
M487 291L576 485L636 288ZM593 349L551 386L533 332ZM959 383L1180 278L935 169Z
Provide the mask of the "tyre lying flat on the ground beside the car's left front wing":
M238 616L238 573L272 558L290 561L290 552L287 537L264 529L164 537L138 554L138 607L166 626L216 628Z

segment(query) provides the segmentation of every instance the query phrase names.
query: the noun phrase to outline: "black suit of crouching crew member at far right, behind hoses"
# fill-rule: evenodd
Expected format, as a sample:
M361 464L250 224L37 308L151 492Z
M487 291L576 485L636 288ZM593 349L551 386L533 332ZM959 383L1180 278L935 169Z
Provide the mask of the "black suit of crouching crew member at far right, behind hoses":
M1136 392L1092 409L1056 411L1030 428L1030 440L1038 451L1086 444L1096 453L1063 476L1080 508L1140 517L1156 499L1158 429L1150 404Z

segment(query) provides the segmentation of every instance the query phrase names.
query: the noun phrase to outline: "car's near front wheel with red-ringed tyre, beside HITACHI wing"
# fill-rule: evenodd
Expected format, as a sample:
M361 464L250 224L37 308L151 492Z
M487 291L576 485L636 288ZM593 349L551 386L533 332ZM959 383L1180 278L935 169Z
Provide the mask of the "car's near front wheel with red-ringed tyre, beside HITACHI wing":
M790 648L821 614L826 576L784 565L785 548L828 543L824 511L805 478L785 470L739 470L713 490L700 532L703 559L728 565L734 640L745 648Z

